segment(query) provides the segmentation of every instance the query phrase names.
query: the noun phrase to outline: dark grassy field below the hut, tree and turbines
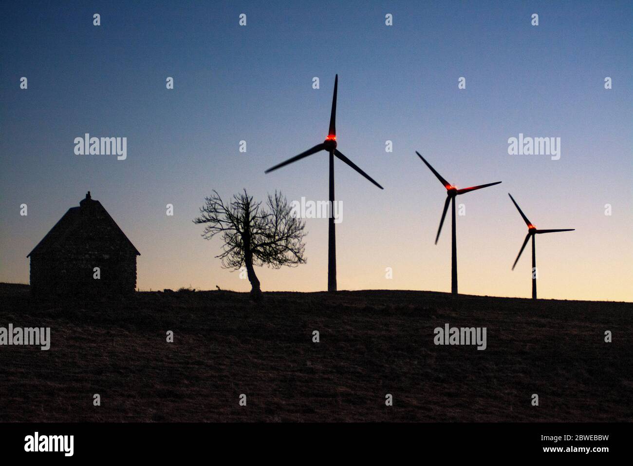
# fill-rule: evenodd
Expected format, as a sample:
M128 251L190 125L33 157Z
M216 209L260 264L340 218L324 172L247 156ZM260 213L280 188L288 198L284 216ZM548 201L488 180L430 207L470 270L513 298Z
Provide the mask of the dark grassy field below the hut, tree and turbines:
M63 304L4 284L0 327L51 327L51 349L0 346L0 421L631 421L632 316L381 290ZM445 323L487 327L487 349L436 346Z

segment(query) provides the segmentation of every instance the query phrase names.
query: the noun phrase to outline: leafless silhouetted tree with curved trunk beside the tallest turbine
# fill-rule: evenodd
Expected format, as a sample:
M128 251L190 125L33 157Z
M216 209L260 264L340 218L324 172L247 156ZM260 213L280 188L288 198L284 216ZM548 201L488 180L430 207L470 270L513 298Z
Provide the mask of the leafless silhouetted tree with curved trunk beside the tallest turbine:
M205 200L201 215L193 221L205 224L202 234L205 240L222 233L222 254L215 257L222 260L223 268L246 267L254 299L260 299L261 288L253 266L266 264L279 269L306 262L305 222L291 214L282 193L275 191L274 196L268 195L265 207L261 202L253 202L246 189L234 195L227 205L215 190Z

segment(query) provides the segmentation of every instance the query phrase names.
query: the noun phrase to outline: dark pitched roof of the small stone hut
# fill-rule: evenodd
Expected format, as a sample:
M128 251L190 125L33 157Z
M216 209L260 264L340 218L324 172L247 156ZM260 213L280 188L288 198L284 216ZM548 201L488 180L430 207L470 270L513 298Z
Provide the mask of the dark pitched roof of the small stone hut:
M34 253L61 252L69 246L111 252L127 247L137 256L141 256L101 202L91 198L90 191L79 203L79 207L68 209L27 257Z

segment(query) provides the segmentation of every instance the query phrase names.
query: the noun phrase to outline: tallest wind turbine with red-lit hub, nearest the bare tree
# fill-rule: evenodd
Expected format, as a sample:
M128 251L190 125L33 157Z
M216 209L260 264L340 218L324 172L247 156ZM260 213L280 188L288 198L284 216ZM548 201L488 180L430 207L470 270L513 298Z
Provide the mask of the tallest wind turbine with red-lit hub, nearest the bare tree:
M332 113L330 113L330 130L327 133L327 138L320 144L317 144L313 148L306 150L306 152L301 152L299 155L295 155L292 159L288 159L285 162L281 162L278 165L275 165L272 168L266 170L266 173L272 172L273 170L277 170L278 168L283 167L284 165L292 164L292 162L296 162L297 160L303 159L304 157L308 157L308 155L312 155L313 153L320 152L325 150L330 154L330 219L329 219L329 242L328 242L328 251L327 251L327 290L328 291L336 291L336 235L334 231L334 216L332 215L334 209L334 156L337 159L342 160L354 170L359 172L373 184L378 186L381 190L384 189L380 184L376 183L367 173L358 168L354 163L345 157L341 151L336 148L336 91L339 86L339 75L337 74L334 78L334 96L332 97Z

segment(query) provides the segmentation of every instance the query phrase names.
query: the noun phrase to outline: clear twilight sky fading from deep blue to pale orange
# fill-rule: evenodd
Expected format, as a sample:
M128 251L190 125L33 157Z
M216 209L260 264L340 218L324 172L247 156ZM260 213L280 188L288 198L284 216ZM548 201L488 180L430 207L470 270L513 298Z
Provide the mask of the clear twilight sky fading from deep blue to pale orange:
M576 228L537 237L539 297L633 301L631 5L5 4L0 281L28 283L28 252L90 190L141 252L142 290L249 290L191 220L214 188L327 200L324 152L264 171L325 138L338 73L339 150L385 187L335 162L339 289L450 290L450 223L434 245L446 191L418 150L458 187L503 181L458 198L460 292L529 297L510 192L537 228ZM84 133L127 137L127 160L75 155ZM561 159L508 155L519 133L560 137ZM327 219L307 230L308 263L257 269L263 290L327 288Z

